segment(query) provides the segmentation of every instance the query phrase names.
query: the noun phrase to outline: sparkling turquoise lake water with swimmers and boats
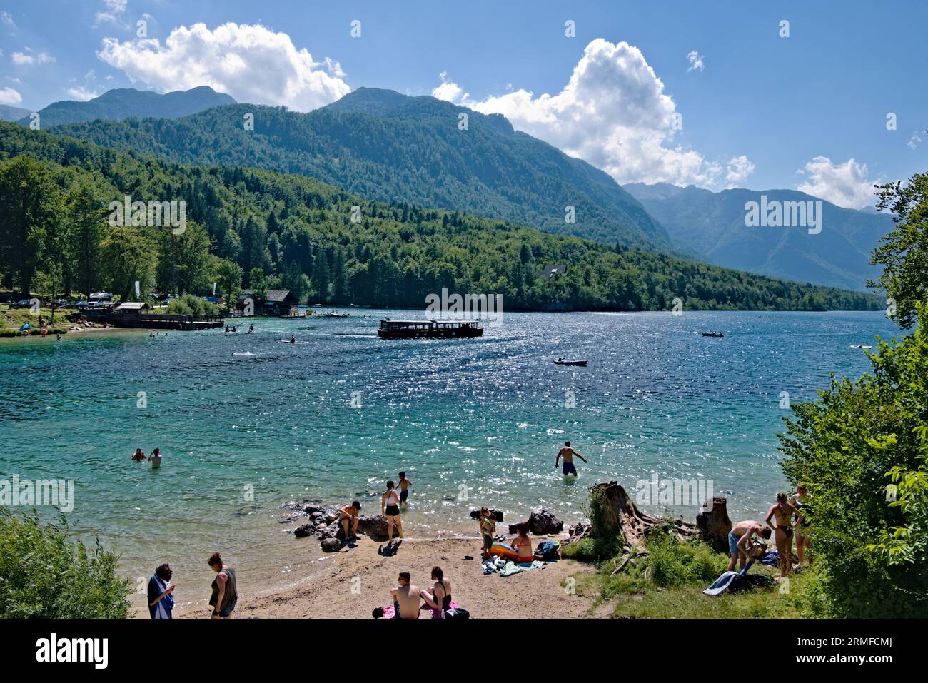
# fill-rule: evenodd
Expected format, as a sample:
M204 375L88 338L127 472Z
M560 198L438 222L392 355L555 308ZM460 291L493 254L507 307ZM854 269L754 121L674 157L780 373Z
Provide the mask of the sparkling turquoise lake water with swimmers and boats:
M282 533L281 502L364 496L379 512L366 496L400 469L413 536L475 532L477 504L573 521L586 484L655 472L712 480L744 518L787 485L780 393L859 376L870 363L849 346L897 334L878 313L506 314L478 340L383 342L380 317L411 314L362 315L2 341L0 478L75 480L71 522L131 576L160 561L200 571L214 548L272 576L312 547ZM714 329L725 338L700 335ZM589 460L578 483L554 469L565 439ZM136 446L160 446L161 470L131 463Z

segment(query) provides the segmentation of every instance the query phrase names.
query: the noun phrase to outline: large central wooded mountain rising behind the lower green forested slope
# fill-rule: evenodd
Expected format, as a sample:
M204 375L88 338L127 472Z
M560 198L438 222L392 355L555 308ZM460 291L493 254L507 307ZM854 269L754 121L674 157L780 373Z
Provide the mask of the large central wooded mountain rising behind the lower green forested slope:
M460 114L467 130L460 130ZM246 115L253 130L246 130ZM369 200L515 221L545 232L668 251L664 228L608 174L516 132L499 114L359 88L309 113L241 104L174 121L55 131L182 163L309 175ZM567 207L575 222L567 222Z

